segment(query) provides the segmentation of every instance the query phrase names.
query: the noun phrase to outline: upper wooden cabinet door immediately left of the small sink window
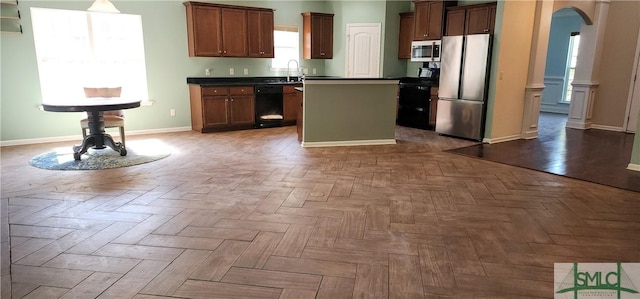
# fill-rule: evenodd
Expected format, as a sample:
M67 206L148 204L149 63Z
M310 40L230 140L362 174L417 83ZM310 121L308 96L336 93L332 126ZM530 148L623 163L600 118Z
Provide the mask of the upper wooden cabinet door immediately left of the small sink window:
M249 57L273 58L273 11L247 11Z

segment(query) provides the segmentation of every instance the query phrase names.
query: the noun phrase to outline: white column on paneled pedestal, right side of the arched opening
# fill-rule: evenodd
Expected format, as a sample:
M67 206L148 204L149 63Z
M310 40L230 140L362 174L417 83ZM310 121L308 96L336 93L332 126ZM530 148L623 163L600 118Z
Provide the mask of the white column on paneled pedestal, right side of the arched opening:
M594 100L598 90L600 57L609 13L609 0L596 0L593 25L582 25L576 73L571 84L571 105L567 128L590 129Z

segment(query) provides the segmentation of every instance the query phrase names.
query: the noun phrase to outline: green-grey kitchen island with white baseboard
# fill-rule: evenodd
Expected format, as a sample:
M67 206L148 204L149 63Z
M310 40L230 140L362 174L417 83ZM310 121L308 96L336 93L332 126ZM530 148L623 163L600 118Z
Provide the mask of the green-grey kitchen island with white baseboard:
M398 79L307 78L303 147L395 144Z

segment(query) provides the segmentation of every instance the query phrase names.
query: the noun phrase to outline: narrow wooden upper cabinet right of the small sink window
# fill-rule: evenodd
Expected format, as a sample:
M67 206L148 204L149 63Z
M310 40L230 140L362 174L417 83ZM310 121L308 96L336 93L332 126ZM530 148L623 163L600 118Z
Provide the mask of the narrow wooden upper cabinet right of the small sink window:
M333 14L302 13L302 57L333 58Z

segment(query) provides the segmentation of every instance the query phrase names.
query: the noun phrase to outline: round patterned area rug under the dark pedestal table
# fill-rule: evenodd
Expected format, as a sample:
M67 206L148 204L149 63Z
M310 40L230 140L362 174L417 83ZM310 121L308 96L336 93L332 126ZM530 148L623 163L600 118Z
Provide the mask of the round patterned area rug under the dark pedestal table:
M127 155L124 157L111 148L89 149L87 153L82 155L80 161L76 161L73 159L73 150L69 146L35 156L29 161L29 164L51 170L95 170L149 163L166 158L170 154L166 148L139 144L127 146Z

